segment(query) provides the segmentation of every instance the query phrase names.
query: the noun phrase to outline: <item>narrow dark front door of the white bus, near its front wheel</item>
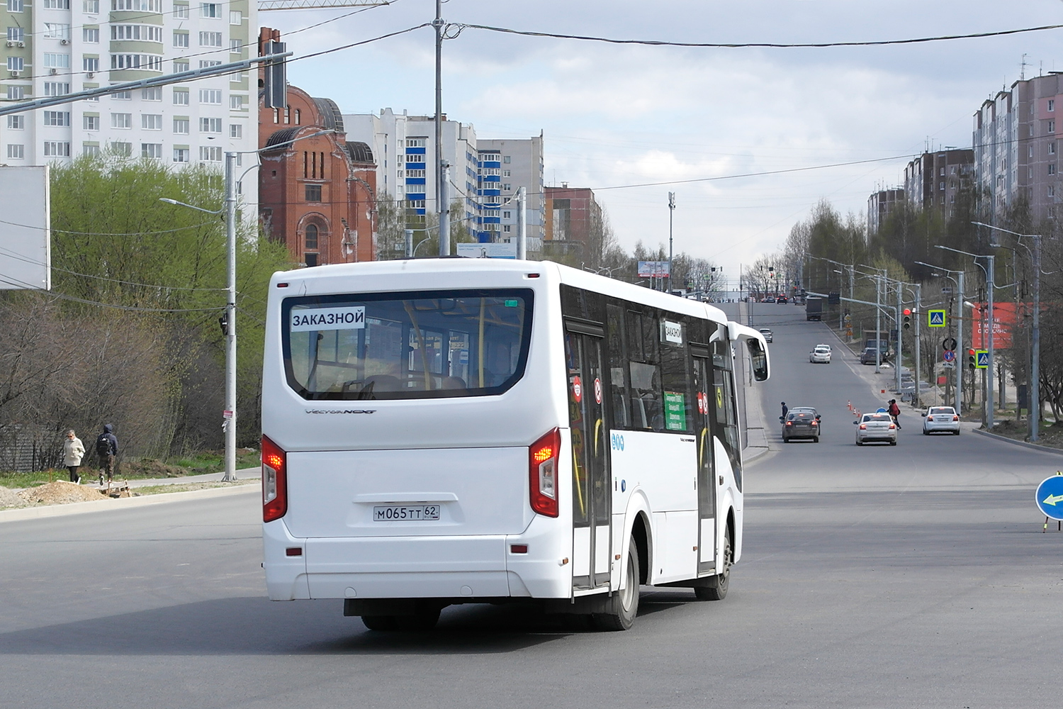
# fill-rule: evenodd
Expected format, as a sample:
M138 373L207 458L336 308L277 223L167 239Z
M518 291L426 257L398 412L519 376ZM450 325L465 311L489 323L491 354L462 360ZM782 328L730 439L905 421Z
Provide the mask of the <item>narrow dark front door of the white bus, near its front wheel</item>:
M696 392L697 425L697 573L715 571L716 559L716 480L713 465L713 436L710 424L713 395L709 353L694 352L694 391Z

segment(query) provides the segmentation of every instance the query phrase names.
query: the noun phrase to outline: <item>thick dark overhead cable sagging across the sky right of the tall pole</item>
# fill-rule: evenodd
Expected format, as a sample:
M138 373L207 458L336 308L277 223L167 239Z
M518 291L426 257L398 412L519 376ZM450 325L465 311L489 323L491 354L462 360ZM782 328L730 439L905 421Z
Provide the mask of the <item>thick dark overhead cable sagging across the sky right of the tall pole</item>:
M1041 27L1022 28L1018 30L997 30L994 32L973 32L971 34L945 34L931 37L915 37L912 39L876 39L858 41L807 41L807 43L774 43L774 41L668 41L663 39L617 39L613 37L595 37L579 34L559 34L555 32L533 32L529 30L513 30L503 27L491 27L489 24L469 24L466 22L451 22L448 30L454 30L449 35L449 39L457 37L462 30L486 30L488 32L501 32L504 34L519 34L525 37L551 37L554 39L580 39L584 41L603 41L610 45L644 45L648 47L693 47L702 49L822 49L827 47L883 47L888 45L919 45L929 41L947 41L950 39L978 39L981 37L1001 37L1010 34L1024 34L1028 32L1043 32L1045 30L1059 30L1063 24L1043 24Z

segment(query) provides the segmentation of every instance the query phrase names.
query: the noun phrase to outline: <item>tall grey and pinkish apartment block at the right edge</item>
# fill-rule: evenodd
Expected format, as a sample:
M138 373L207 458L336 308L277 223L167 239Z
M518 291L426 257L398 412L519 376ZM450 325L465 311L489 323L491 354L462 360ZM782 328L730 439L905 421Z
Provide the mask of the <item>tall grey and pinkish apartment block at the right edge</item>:
M1034 221L1056 218L1060 202L1058 114L1060 72L1016 81L986 100L974 116L975 180L991 200L993 217L1020 195ZM1060 111L1057 111L1060 107Z

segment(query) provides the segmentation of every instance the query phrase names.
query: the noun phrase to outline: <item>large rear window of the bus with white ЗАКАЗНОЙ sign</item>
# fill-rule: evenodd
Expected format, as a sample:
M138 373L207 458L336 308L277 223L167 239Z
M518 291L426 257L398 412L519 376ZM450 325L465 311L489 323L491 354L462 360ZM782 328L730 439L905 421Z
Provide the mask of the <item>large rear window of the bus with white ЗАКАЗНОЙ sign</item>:
M528 289L287 298L288 385L308 400L499 394L524 373Z

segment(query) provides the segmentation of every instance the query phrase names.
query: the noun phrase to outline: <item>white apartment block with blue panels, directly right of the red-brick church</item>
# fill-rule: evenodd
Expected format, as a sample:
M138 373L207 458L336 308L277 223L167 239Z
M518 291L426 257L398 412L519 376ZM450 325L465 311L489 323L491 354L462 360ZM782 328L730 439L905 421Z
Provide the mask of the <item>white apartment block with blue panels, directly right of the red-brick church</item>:
M438 210L436 196L436 120L433 116L410 116L382 108L379 114L344 114L348 138L365 142L376 156L376 185L381 199L396 199L407 215L420 217ZM462 222L479 236L477 183L479 159L476 129L459 121L442 120L443 159L451 165L449 197L460 202L461 214L451 222Z

